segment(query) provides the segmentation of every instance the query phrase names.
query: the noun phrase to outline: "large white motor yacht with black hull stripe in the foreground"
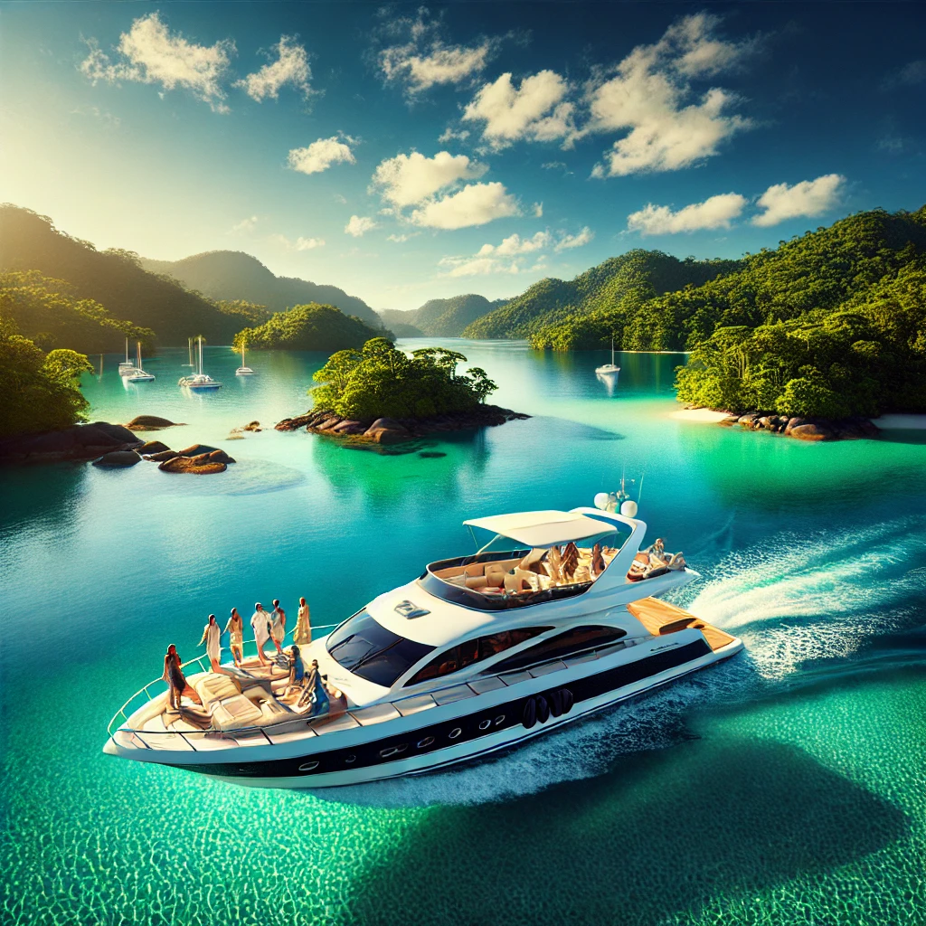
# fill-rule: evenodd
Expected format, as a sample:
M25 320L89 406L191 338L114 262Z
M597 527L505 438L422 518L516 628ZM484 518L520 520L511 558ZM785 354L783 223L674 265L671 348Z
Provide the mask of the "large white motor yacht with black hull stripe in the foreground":
M212 672L200 657L186 679L201 705L174 709L151 682L104 752L257 787L372 782L509 749L743 648L659 600L698 574L660 541L641 550L642 520L579 507L465 523L489 543L302 647L324 696L293 690L272 660Z

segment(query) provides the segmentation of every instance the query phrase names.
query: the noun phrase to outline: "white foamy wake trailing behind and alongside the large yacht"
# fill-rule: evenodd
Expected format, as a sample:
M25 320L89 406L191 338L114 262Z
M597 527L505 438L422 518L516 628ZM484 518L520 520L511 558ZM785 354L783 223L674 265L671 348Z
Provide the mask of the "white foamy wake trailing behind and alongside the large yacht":
M692 735L686 718L693 708L903 664L894 649L846 660L877 636L922 623L910 602L926 592L924 553L926 532L909 519L836 535L782 533L713 569L695 566L706 582L678 603L742 637L742 656L495 758L315 795L375 807L509 800L603 774L628 754L675 745Z

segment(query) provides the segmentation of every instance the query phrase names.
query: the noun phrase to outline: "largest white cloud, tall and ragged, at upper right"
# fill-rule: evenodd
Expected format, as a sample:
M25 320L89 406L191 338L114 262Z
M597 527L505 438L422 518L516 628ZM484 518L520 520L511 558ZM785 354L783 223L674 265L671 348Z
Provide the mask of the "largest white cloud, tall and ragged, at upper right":
M691 81L740 64L755 41L725 42L720 20L707 13L674 23L651 45L638 45L611 77L599 74L586 87L590 119L583 134L629 130L596 165L597 177L644 170L677 170L718 153L721 143L751 127L731 112L735 94L720 87L695 97Z

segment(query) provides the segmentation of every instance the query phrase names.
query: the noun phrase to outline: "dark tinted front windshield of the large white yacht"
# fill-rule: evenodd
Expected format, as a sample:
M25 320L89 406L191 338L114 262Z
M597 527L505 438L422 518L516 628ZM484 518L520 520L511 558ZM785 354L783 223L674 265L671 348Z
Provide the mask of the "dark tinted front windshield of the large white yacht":
M326 645L329 655L344 669L386 688L434 649L386 630L367 611L358 611L344 621Z

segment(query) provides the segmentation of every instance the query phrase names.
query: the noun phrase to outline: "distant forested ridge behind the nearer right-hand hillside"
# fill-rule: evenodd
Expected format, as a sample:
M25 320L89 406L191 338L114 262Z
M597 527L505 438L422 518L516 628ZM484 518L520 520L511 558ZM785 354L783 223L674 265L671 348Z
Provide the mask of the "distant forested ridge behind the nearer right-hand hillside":
M567 319L603 311L615 321L632 325L638 307L647 299L706 282L739 266L732 260L679 260L661 251L634 250L610 257L574 280L547 278L534 283L524 294L472 322L463 334L472 338L526 338ZM597 347L597 341L595 330L594 343L556 346Z

